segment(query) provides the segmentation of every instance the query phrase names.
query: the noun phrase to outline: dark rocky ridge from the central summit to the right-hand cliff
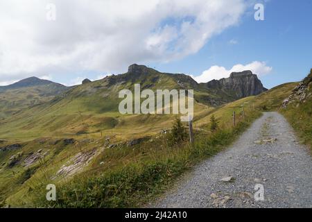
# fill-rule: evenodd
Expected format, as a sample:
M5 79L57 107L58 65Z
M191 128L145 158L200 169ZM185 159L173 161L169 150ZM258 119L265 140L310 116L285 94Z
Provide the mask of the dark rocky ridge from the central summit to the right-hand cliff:
M155 75L155 79L157 79L157 74L162 74L155 69L136 64L129 67L127 74L134 78L151 73ZM252 71L233 72L229 78L211 80L208 83L197 83L191 76L185 74L163 74L175 80L175 87L194 89L197 101L212 106L222 105L248 96L256 96L268 90L263 87L257 75L252 74Z

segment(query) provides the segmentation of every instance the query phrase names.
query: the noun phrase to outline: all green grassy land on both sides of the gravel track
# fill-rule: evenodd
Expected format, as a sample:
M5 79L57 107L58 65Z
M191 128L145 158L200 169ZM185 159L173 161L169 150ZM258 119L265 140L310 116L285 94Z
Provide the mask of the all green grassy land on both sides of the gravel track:
M297 83L218 108L209 105L207 96L214 100L222 100L222 96L199 85L193 146L175 115L121 115L116 110L120 89L133 89L134 83L141 83L142 88L180 89L177 78L153 69L144 75L110 76L0 119L0 147L21 146L0 151L0 207L144 205L200 160L231 144L263 110L280 110L303 142L311 144L311 97L290 103L286 110L281 108ZM189 79L183 83L196 87ZM311 84L308 90L311 92ZM160 133L169 128L171 133ZM30 160L33 162L26 165ZM72 172L61 170L71 168ZM56 202L45 200L50 183L57 187Z

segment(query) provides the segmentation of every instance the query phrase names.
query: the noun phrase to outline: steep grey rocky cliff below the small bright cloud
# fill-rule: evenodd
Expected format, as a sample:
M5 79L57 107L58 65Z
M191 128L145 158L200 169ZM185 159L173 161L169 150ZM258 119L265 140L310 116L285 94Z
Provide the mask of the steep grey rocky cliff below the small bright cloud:
M268 90L252 71L233 72L229 78L211 80L206 86L209 89L223 91L234 99L255 96Z

